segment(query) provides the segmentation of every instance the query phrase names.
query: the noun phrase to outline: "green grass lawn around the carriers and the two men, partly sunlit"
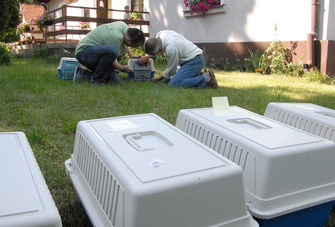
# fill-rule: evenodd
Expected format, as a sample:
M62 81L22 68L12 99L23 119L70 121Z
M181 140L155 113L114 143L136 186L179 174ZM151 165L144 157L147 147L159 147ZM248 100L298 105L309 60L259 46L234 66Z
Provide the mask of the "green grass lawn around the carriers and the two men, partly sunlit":
M171 88L164 82L91 86L59 80L57 63L13 59L0 67L0 132L26 134L59 209L63 226L88 226L65 173L80 120L155 113L175 124L179 110L212 107L211 97L227 96L231 106L264 114L269 102L302 102L335 109L335 86L302 78L216 71L219 88ZM155 65L160 75L164 65ZM335 226L335 211L325 226Z

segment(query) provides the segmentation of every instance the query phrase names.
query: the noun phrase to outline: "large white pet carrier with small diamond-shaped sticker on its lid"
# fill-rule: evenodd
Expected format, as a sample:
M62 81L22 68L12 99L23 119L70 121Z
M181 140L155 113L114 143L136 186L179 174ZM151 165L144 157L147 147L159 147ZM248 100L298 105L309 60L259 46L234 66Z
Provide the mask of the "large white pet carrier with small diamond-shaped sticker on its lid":
M80 121L65 167L97 227L259 226L241 168L156 114Z

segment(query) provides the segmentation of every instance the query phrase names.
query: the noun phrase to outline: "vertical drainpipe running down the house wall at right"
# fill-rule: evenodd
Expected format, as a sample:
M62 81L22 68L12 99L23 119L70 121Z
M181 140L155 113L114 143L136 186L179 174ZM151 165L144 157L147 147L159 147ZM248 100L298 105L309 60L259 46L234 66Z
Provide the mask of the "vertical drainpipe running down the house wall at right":
M312 15L311 15L311 32L307 34L307 62L303 64L304 69L310 69L315 66L314 63L314 39L318 37L318 7L319 0L312 0Z

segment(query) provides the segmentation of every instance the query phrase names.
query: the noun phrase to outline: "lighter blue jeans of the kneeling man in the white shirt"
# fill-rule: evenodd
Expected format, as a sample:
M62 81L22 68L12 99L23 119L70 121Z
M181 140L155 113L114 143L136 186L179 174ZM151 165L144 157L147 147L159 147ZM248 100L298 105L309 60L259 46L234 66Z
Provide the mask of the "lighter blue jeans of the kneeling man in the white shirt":
M206 79L204 75L200 75L203 66L204 58L202 55L197 55L192 60L189 60L180 66L180 69L174 74L169 86L182 87L205 87Z

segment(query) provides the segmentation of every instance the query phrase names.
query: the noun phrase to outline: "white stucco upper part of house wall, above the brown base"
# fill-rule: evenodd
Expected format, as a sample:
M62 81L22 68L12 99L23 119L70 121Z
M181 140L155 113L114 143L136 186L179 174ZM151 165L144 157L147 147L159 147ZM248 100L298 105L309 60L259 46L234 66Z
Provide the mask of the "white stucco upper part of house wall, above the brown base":
M145 11L150 12L149 33L154 36L160 30L170 29L192 42L211 43L306 40L311 31L311 0L224 0L224 4L226 12L186 18L183 0L145 0ZM334 0L320 0L319 16L327 20L328 27L322 27L319 39L334 40L330 24L334 28L335 16L329 12L334 4Z

